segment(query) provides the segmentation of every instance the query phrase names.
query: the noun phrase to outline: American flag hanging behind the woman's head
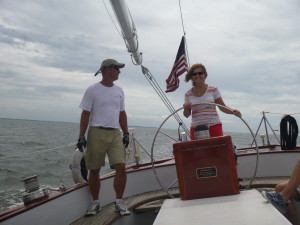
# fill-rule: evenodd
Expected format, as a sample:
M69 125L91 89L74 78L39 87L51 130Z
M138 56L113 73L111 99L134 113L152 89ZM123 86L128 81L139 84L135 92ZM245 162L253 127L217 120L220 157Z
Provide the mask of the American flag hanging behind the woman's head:
M180 46L176 55L176 59L172 71L168 79L166 80L167 82L166 92L175 91L179 87L178 77L186 71L188 71L188 65L185 56L185 38L183 36L180 42Z

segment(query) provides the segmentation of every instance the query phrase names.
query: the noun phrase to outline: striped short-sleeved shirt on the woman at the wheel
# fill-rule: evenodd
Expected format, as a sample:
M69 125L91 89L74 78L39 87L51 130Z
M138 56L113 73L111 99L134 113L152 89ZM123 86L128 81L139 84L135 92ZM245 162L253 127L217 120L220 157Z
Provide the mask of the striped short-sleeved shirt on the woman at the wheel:
M220 118L215 105L200 103L215 103L221 94L216 86L208 85L204 95L197 97L192 93L192 89L187 91L184 96L184 103L192 104L192 123L191 127L198 125L213 126L220 124Z

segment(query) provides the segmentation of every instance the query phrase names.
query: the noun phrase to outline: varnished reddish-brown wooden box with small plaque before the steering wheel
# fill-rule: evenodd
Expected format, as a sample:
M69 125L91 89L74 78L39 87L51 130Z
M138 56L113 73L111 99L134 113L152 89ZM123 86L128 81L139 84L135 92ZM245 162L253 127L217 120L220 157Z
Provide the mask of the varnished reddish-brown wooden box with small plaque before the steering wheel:
M173 145L182 200L239 194L230 136Z

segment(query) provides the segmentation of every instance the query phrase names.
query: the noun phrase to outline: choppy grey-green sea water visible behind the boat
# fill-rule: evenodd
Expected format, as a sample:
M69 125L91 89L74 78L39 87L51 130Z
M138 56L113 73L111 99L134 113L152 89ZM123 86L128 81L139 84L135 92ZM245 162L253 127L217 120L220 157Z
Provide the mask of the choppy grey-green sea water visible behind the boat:
M41 187L57 188L61 183L74 185L69 165L78 138L79 124L28 120L0 119L0 210L3 211L22 203L24 185L22 180L38 175ZM157 128L134 127L135 138L150 154ZM163 132L178 139L177 129L163 129ZM233 143L247 147L252 143L250 133L226 133ZM270 135L272 143L277 143ZM260 138L257 142L261 144ZM174 140L159 134L155 141L154 158L172 156ZM141 162L150 157L140 148ZM108 166L100 174L111 172Z

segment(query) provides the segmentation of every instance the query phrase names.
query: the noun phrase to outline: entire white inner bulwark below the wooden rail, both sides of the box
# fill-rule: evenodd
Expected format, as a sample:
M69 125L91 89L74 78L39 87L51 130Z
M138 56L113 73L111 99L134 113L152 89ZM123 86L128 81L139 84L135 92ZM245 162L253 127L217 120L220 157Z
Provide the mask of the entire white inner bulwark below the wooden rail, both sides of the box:
M273 151L260 154L257 176L289 176L299 158L300 151ZM251 178L255 170L255 162L256 154L240 155L238 157L239 177ZM156 173L162 185L169 186L177 178L174 161L157 165ZM177 185L177 183L174 184L174 186ZM112 187L113 174L102 177L100 196L103 206L112 203L115 199ZM130 169L124 198L160 189L151 166L137 170ZM1 215L0 222L3 225L70 224L84 216L89 203L88 187L86 184L80 184L27 207L19 207L18 210L10 209L11 213Z

